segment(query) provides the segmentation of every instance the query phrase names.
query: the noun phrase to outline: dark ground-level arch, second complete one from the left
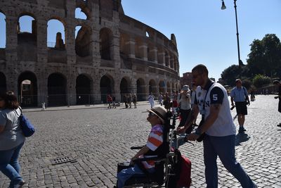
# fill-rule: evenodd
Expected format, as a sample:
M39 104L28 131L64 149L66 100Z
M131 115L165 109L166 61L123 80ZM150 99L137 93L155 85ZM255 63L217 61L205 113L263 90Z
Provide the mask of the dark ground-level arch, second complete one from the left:
M67 105L67 79L61 73L48 76L48 106Z

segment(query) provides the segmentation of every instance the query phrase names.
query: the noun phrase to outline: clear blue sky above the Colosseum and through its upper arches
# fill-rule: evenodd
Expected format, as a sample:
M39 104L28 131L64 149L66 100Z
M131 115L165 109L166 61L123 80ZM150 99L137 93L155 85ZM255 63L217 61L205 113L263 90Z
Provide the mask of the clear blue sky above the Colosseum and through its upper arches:
M180 74L203 63L209 76L218 80L228 66L237 64L237 38L233 0L122 0L126 15L140 20L170 38L176 35ZM77 14L79 10L77 10ZM81 17L83 15L79 15ZM276 34L281 39L281 0L237 0L240 56L246 63L251 42L264 35ZM29 31L32 18L22 18L22 31ZM48 45L55 42L55 33L62 32L58 20L48 23ZM79 27L77 27L79 30ZM0 13L0 48L5 46L6 28ZM51 44L50 44L51 45Z

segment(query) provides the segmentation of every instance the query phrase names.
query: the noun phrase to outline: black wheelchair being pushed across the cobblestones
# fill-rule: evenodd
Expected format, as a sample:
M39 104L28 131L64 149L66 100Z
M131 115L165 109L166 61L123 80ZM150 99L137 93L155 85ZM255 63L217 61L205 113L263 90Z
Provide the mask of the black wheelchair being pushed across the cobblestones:
M129 180L126 180L124 187L178 187L177 180L180 176L178 167L179 165L181 165L181 152L178 150L178 146L179 142L185 142L186 135L176 137L175 125L177 118L178 117L176 114L173 115L169 111L166 113L161 151L157 153L157 156L155 157L138 158L134 160L133 162L137 164L139 168L141 168L144 175L133 175L129 178ZM173 142L174 144L172 144ZM141 148L142 146L131 147L131 149ZM145 168L143 168L141 164L141 161L154 161L155 173L146 172ZM118 163L117 173L119 173L119 171L123 170L124 168L130 167L131 166L129 165L129 163Z

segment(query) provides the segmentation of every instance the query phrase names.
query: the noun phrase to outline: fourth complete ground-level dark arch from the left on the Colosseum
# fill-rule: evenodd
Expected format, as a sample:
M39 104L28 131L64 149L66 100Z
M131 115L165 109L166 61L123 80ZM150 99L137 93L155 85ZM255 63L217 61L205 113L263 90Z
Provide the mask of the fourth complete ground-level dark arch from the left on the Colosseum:
M111 75L103 75L100 78L100 99L103 103L106 103L107 94L114 93L114 80Z

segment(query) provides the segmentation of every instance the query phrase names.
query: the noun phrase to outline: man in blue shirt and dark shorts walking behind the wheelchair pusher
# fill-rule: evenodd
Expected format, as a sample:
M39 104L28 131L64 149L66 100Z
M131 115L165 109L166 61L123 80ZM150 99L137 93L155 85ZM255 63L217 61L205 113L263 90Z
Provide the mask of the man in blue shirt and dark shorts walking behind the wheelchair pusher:
M235 80L236 87L234 87L230 92L230 100L231 106L236 107L237 115L238 115L238 123L239 123L239 133L242 133L245 130L244 122L245 115L247 112L247 104L250 105L249 94L245 87L242 87L242 81L240 79ZM235 101L235 104L233 103Z

